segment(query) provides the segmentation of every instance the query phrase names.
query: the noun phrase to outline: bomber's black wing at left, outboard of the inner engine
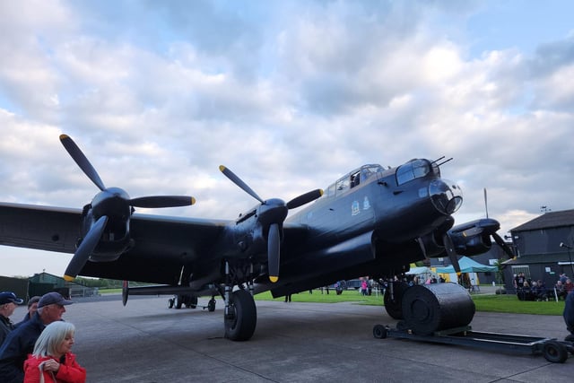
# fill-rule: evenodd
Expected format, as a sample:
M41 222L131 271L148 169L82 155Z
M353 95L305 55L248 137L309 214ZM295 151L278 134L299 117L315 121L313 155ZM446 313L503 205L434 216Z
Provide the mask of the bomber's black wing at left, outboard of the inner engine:
M88 262L80 275L177 284L184 265L201 274L227 221L137 214L131 218L134 246L112 262ZM0 204L0 245L74 253L82 211L39 205Z

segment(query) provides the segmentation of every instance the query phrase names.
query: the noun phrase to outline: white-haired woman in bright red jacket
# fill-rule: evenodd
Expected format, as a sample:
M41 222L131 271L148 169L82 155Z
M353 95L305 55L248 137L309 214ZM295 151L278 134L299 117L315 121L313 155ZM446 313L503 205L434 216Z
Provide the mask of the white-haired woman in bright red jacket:
M34 351L24 362L24 383L84 383L86 370L70 353L75 327L52 322L39 335Z

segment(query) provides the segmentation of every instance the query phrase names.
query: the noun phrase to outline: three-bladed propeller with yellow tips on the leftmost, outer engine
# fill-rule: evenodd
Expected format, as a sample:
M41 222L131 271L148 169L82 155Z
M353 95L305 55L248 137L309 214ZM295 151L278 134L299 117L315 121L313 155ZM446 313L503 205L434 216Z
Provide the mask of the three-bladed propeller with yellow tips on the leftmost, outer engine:
M70 154L83 173L91 179L91 182L100 189L100 193L91 201L90 229L84 235L82 242L74 253L74 257L65 269L64 278L72 281L80 273L83 266L94 253L101 242L102 234L110 221L120 220L128 223L132 213L132 207L155 208L155 207L178 207L194 205L196 199L193 196L143 196L131 199L127 193L118 187L105 187L98 172L91 166L80 148L68 135L60 135L60 142ZM117 225L125 226L125 225ZM129 231L126 232L126 235ZM115 256L119 256L126 247L117 248ZM115 259L115 258L114 258ZM113 260L113 259L112 259Z

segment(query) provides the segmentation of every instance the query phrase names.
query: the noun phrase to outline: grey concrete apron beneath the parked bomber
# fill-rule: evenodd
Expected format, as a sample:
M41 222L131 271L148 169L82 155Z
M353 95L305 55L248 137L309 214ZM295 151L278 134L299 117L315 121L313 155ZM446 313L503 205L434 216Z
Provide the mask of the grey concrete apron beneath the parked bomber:
M223 335L217 309L168 309L168 297L76 300L73 352L88 382L569 382L574 358L494 353L449 344L375 339L373 326L396 326L382 307L352 303L257 301L248 342ZM200 299L199 304L207 300ZM552 304L552 302L540 302ZM24 314L20 307L13 315ZM478 312L475 331L563 339L560 316Z

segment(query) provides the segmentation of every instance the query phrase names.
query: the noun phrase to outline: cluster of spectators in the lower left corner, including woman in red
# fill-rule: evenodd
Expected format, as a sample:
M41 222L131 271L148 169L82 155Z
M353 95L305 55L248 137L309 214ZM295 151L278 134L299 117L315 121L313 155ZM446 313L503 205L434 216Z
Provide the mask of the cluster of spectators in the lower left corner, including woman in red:
M58 292L32 297L14 324L10 317L22 303L13 292L0 292L0 381L84 383L86 370L71 352L75 327L62 318L72 300Z

